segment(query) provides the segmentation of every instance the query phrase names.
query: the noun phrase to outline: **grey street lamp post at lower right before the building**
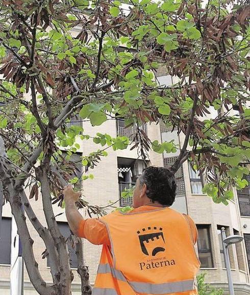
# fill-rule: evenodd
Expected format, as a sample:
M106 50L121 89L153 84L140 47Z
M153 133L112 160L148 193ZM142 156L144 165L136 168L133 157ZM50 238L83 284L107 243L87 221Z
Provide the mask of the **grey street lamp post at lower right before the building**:
M243 237L238 235L232 235L232 236L226 237L225 228L221 228L221 236L222 236L225 264L226 264L227 275L228 275L229 294L234 295L234 285L233 285L232 274L231 274L228 247L231 244L236 244L243 241Z

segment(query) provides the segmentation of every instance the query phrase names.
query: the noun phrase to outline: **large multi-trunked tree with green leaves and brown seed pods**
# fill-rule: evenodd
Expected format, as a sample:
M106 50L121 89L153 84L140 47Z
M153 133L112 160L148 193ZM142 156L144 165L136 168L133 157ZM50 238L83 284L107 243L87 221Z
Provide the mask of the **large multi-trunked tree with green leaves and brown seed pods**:
M204 192L216 203L228 204L231 186L247 184L242 180L250 157L246 1L0 3L0 178L39 294L70 294L67 243L52 202L63 206L62 187L69 180L79 183L73 175L76 165L69 159L79 148L76 137L98 144L82 158L86 171L107 156L109 147L129 145L127 137L97 133L91 138L81 127L69 127L72 116L90 120L93 126L124 117L126 126L136 126L132 148L142 158L149 149L171 153L180 148L172 171L189 159L194 169L207 175ZM72 33L76 28L78 33ZM159 85L155 73L162 67L179 82ZM215 118L206 118L209 108L218 111ZM230 112L236 108L239 116ZM140 126L159 121L185 134L183 146L151 142ZM66 159L60 147L68 150ZM25 186L31 188L30 198L38 199L41 191L47 227L33 212ZM84 199L78 205L93 213L103 211ZM53 285L44 282L37 267L26 216L44 241ZM77 253L82 294L90 294L80 240Z

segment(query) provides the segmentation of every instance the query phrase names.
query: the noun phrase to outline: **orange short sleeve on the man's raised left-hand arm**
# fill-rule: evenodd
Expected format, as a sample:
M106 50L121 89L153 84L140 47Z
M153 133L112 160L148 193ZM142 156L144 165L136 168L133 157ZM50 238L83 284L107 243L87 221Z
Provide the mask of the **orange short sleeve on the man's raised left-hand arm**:
M98 218L83 219L79 225L78 236L87 239L94 245L110 245L107 228Z

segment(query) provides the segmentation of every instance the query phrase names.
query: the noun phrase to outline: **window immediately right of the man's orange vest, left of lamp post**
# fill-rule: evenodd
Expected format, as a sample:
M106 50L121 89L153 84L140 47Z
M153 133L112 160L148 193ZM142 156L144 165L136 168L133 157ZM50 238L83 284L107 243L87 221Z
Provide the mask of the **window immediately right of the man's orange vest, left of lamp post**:
M198 230L198 255L201 261L201 267L209 268L213 267L212 248L210 241L210 226L197 225Z

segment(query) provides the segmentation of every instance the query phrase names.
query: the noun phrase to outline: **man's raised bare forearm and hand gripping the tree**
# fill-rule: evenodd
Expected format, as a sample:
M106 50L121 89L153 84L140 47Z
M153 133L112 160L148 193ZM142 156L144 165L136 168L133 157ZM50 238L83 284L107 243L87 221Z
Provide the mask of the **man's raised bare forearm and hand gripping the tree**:
M84 219L76 207L76 202L79 200L81 193L73 191L71 185L64 187L65 212L68 220L68 225L75 235L79 235L80 223Z

